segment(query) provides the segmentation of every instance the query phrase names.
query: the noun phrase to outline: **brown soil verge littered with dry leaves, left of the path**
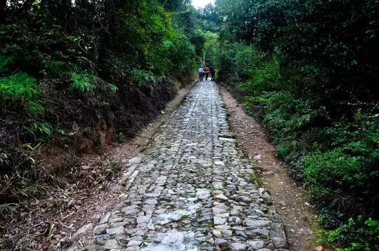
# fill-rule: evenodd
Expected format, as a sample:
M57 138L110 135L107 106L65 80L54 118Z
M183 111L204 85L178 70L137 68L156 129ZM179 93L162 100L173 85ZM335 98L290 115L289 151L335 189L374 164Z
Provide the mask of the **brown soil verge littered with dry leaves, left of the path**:
M76 235L103 217L106 208L120 195L119 174L129 159L150 144L159 126L181 104L192 88L178 90L158 117L124 143L113 143L103 154L77 157L77 181L48 187L45 195L32 199L28 208L0 219L1 250L60 250L68 248ZM76 170L77 169L77 170ZM111 170L108 170L111 169ZM109 178L110 172L116 172Z

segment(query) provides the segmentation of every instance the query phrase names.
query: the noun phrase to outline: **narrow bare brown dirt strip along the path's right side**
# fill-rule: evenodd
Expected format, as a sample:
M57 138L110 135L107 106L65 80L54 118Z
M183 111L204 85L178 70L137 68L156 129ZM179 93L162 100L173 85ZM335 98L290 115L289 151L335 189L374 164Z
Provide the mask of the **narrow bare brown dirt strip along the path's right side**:
M223 101L229 109L229 121L238 137L238 143L255 159L263 186L272 193L278 212L285 221L285 230L291 250L314 250L317 232L316 212L308 203L304 190L287 172L285 163L276 157L262 126L247 115L232 94L221 88Z

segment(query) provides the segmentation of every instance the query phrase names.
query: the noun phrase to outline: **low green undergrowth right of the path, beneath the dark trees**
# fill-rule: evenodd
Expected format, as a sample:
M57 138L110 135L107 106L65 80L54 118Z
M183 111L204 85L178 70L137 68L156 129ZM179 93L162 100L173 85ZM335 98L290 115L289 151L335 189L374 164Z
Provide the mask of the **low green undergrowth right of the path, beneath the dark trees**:
M247 49L241 50L240 45L225 49L221 54L225 68L244 66L238 63L239 54ZM224 74L221 80L247 113L263 123L291 176L305 184L326 229L320 242L345 251L377 250L379 123L375 101L341 113L318 90L299 94L303 83L298 81L306 79L301 70L291 68L289 77L288 69L278 67L278 59L255 53L247 75L241 73L236 79Z

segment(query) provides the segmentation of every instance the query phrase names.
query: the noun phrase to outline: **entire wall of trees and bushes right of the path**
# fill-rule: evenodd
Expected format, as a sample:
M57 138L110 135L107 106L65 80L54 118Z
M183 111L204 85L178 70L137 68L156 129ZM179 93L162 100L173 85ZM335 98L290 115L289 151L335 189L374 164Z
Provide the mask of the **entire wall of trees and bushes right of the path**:
M324 241L378 249L377 1L216 1L220 79L322 212Z

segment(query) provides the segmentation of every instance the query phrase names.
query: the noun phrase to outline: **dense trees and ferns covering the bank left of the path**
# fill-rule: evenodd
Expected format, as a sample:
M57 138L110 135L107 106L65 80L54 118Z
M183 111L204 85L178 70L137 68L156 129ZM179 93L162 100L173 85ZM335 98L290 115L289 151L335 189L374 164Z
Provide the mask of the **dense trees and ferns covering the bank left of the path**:
M149 123L174 96L172 79L190 79L199 45L196 25L176 18L193 12L188 1L1 1L0 9L1 214L41 192L42 144L87 152L103 134L131 136Z

